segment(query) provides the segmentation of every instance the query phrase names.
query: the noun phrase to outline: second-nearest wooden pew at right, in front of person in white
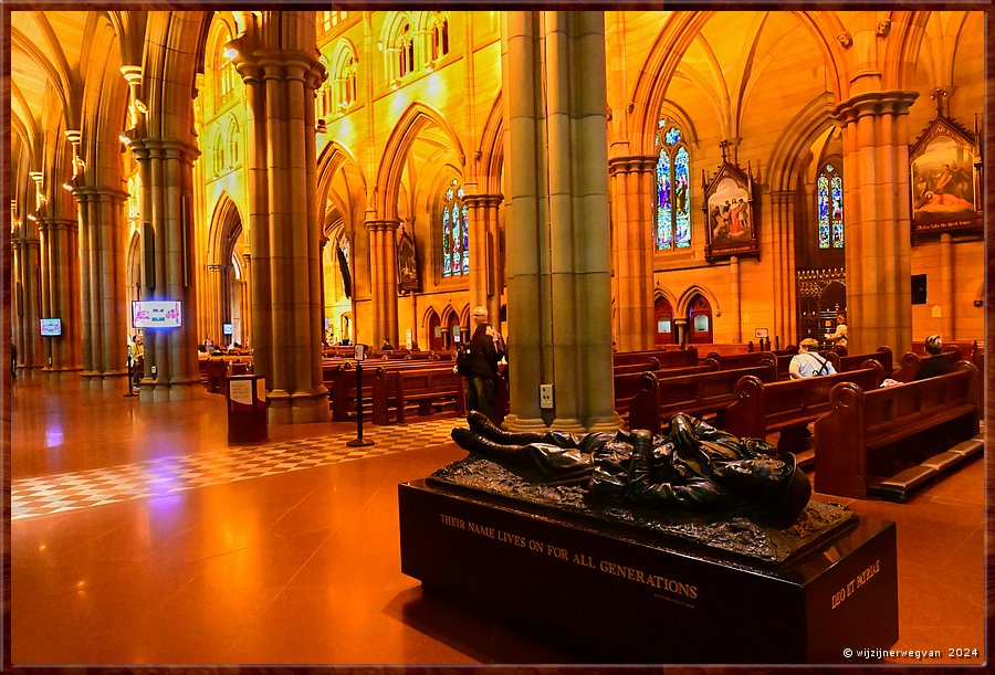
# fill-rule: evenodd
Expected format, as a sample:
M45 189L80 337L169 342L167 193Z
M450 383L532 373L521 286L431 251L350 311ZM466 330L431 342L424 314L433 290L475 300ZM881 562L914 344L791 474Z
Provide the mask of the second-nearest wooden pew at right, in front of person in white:
M876 389L884 380L878 361L865 361L865 368L800 380L765 383L745 377L736 383L735 401L725 409L725 430L741 437L765 439L781 432L778 452L795 452L804 446L806 426L829 411L829 390L839 382L852 382L862 389Z

